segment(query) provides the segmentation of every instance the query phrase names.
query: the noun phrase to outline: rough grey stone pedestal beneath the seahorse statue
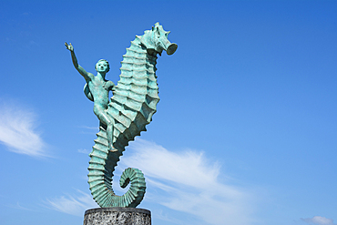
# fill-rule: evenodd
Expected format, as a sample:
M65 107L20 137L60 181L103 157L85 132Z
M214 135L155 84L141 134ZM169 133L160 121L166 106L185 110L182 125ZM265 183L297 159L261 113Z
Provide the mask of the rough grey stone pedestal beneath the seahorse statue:
M151 212L136 208L97 208L87 210L83 225L151 225Z

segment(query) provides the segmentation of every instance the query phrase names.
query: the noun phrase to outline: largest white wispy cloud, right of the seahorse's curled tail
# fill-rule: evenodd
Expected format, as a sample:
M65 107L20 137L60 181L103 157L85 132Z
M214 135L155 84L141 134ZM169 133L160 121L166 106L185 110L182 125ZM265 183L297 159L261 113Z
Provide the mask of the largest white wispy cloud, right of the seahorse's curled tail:
M132 156L121 165L141 169L148 189L147 195L171 210L195 215L204 224L250 224L252 195L244 189L220 182L220 165L197 151L171 152L156 143L140 138L130 143ZM156 191L154 191L156 192Z

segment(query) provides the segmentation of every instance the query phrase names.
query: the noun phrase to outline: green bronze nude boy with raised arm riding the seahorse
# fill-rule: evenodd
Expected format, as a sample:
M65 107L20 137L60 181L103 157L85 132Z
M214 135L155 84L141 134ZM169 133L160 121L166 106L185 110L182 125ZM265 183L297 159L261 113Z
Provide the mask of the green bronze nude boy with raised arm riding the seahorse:
M91 73L87 73L87 71L79 66L77 63L77 57L74 53L74 47L69 43L65 43L66 49L68 49L71 53L71 58L73 60L73 64L77 71L86 79L87 84L85 85L84 92L91 101L94 102L94 113L105 125L107 125L107 142L108 142L108 150L117 151L112 146L113 142L113 131L114 131L114 118L111 118L107 115L106 109L107 104L109 102L108 93L115 89L115 84L106 80L106 74L110 69L107 60L100 59L95 68L97 71L97 76L94 76Z

